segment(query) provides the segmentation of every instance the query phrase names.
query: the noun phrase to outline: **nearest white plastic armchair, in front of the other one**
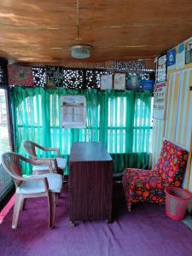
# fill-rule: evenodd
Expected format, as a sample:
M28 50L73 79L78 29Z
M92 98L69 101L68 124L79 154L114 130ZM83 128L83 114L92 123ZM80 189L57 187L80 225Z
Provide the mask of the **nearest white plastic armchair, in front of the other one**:
M31 177L22 177L20 160L32 165L47 165L52 173ZM2 155L4 169L15 181L15 206L12 220L12 229L17 228L20 210L24 208L27 198L47 196L49 205L49 228L55 225L56 196L61 192L62 177L54 173L50 160L28 160L20 154L6 152Z

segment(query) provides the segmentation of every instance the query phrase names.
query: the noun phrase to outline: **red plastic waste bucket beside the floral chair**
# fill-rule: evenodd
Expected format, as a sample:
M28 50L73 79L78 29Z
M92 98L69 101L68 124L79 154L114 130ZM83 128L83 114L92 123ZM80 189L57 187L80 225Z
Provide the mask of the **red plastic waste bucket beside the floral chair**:
M181 188L166 188L166 215L175 220L184 218L192 194Z

